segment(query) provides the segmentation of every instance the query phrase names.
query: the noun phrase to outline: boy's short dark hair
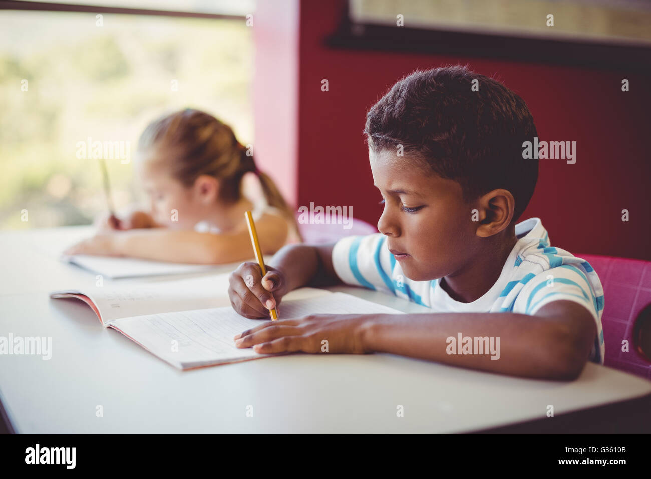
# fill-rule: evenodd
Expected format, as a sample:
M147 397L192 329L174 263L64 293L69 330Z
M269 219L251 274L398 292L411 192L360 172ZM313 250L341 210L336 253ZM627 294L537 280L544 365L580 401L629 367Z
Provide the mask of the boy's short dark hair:
M473 91L478 80L478 91ZM477 82L475 82L477 83ZM518 220L533 196L538 160L523 159L536 126L524 100L466 66L417 70L398 81L367 113L364 132L374 152L397 151L426 171L462 186L464 201L504 188Z

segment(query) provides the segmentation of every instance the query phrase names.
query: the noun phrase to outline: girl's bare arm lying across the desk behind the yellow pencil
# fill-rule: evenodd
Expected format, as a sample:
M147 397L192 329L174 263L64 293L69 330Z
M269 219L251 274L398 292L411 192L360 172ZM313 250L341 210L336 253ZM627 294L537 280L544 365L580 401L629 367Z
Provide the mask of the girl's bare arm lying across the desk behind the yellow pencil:
M288 225L277 216L256 222L262 254L272 254L284 243ZM197 233L167 228L132 229L100 233L68 248L66 254L133 256L176 263L221 264L253 257L247 229L239 233Z

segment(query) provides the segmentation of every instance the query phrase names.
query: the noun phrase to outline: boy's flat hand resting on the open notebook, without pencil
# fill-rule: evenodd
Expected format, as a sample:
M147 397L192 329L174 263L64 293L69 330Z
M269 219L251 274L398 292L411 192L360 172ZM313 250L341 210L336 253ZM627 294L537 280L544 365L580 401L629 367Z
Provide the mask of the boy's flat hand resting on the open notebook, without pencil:
M312 314L300 319L279 319L235 336L237 347L270 353L352 353L371 351L365 333L375 315Z

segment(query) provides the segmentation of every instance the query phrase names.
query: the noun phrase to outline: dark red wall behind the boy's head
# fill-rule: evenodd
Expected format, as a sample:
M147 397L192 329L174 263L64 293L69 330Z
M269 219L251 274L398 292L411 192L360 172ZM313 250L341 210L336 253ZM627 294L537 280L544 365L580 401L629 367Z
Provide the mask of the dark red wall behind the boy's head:
M541 139L577 141L576 164L540 160L538 186L521 220L538 216L551 244L575 254L651 259L650 78L497 59L327 48L324 38L337 27L342 8L343 0L300 1L298 205L352 206L355 218L375 225L381 197L372 186L363 143L367 109L416 68L468 63L481 74L495 74L527 102ZM621 91L622 78L630 80L628 93ZM327 92L321 91L323 79L329 81ZM622 209L630 211L630 222L622 222Z

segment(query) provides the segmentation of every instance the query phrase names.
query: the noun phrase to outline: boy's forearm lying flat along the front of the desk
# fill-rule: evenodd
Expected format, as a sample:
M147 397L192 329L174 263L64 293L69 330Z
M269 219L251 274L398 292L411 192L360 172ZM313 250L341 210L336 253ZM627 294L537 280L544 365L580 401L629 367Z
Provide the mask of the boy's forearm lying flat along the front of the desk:
M585 365L584 361L579 368L572 362L572 338L561 321L519 313L373 315L360 334L368 352L393 353L508 375L574 379ZM472 340L470 349L467 345L465 348L472 354L464 354L465 337ZM475 337L488 337L488 352L478 354L475 342L477 346L486 342L475 341Z

